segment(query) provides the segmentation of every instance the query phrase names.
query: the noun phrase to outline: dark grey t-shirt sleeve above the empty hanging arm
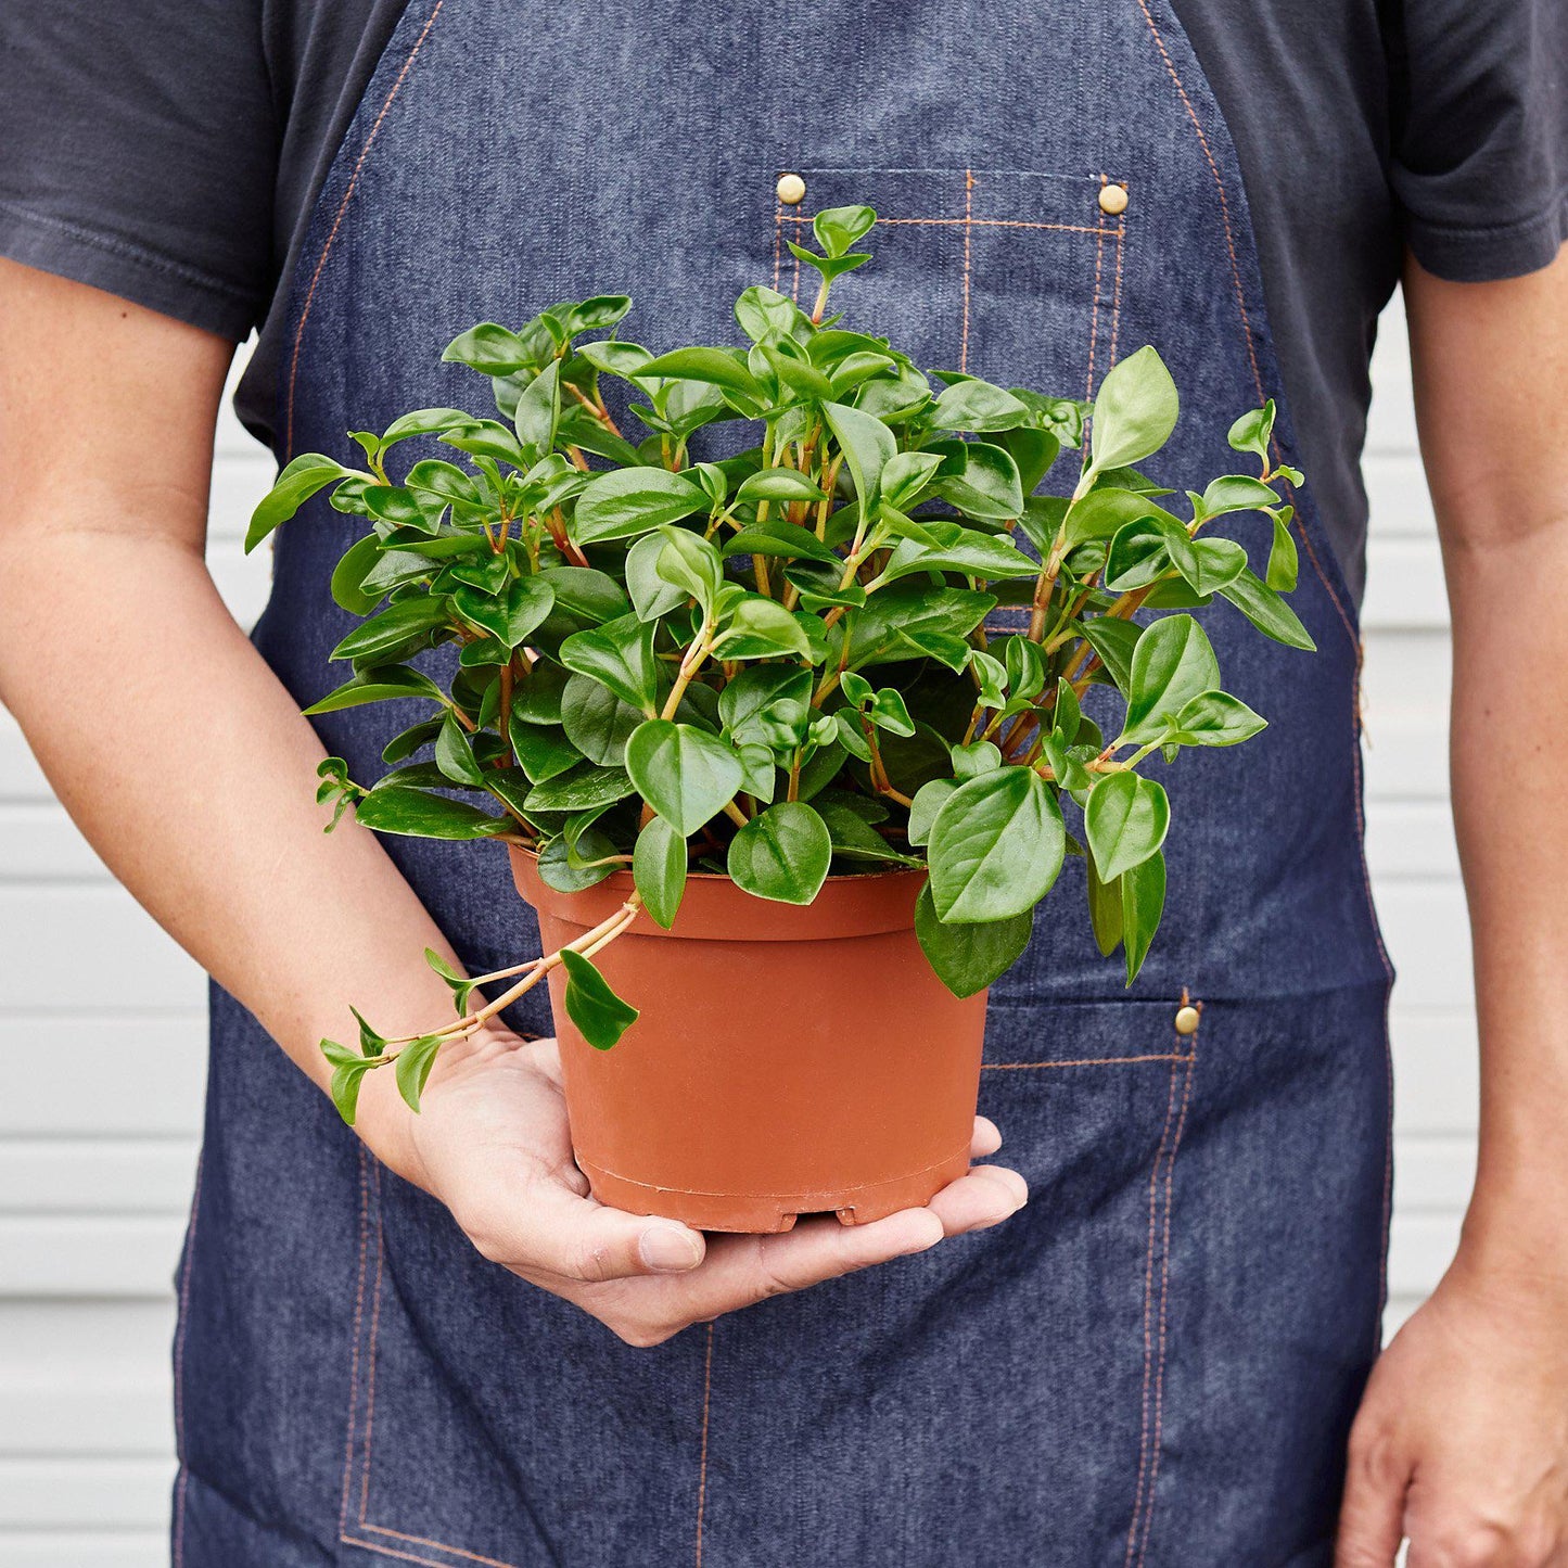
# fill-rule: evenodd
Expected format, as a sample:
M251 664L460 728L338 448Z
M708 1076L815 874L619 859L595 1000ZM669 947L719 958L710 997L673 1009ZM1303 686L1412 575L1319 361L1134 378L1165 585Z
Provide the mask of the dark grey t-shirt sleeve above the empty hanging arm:
M1455 282L1568 238L1568 0L1406 0L1391 179L1416 259Z

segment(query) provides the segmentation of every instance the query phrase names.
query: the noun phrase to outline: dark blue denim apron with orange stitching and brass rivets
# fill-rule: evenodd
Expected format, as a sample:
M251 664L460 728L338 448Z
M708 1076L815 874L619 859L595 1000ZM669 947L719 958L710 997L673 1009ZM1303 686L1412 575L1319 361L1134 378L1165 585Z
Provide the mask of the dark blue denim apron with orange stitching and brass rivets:
M1281 397L1236 154L1167 0L412 0L293 281L279 459L481 409L437 364L477 320L629 292L629 337L728 342L742 287L809 287L786 241L847 202L881 223L834 303L924 365L1088 395L1152 342L1178 483L1237 467L1229 420ZM1278 441L1297 461L1283 405ZM993 991L982 1110L1032 1190L997 1229L632 1350L485 1262L215 994L176 1562L1327 1563L1383 1300L1391 972L1355 612L1297 502L1319 652L1201 612L1270 728L1165 770L1137 985L1069 861ZM301 704L340 679L354 532L318 499L278 541L256 640ZM401 721L318 728L367 778ZM502 850L387 847L470 966L538 941ZM549 1030L541 993L514 1022Z

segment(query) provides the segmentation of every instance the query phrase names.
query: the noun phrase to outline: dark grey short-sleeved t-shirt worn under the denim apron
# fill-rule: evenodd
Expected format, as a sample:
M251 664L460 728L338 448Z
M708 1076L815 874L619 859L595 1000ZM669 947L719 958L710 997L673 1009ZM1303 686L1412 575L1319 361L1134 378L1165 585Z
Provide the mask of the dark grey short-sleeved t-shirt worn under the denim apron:
M1110 3L1110 0L1107 0ZM1124 0L1131 3L1131 0ZM5 0L0 254L260 342L405 0ZM1377 315L1568 238L1568 0L1174 0L1240 154L1309 480L1359 594Z

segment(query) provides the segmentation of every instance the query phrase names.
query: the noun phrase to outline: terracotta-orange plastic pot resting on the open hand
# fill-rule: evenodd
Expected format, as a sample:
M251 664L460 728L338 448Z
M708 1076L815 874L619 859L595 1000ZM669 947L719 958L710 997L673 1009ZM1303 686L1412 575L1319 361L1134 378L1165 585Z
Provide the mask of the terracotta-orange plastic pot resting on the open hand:
M513 848L544 950L619 908L630 873L547 887ZM577 1163L602 1203L706 1231L845 1225L922 1204L969 1165L985 993L960 1000L914 936L924 872L831 878L770 903L691 877L670 931L644 913L596 956L638 1021L594 1051L550 974Z

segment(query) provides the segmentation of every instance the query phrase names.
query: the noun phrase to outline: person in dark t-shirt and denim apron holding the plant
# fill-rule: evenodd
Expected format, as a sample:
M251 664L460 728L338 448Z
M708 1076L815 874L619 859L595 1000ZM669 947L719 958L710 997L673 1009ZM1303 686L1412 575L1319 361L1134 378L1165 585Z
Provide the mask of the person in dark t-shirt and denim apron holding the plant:
M1347 63L1361 56L1344 9ZM1334 431L1359 419L1361 372L1345 372L1358 350L1364 368L1356 314L1381 303L1403 221L1461 655L1457 798L1479 916L1486 1131L1461 1256L1378 1364L1363 1408L1339 1557L1391 1562L1403 1530L1413 1562L1552 1562L1568 1530L1557 1480L1568 1265L1543 1214L1568 1173L1552 1137L1563 1065L1540 1019L1562 1008L1555 887L1568 842L1537 737L1540 712L1568 696L1554 684L1568 665L1551 601L1568 547L1538 481L1568 439L1568 281L1548 267L1562 238L1549 179L1560 114L1496 49L1472 39L1452 60L1417 25L1380 34L1419 89L1402 107L1414 129L1399 157L1367 136L1334 149L1356 179L1311 154L1286 179L1265 136L1237 154L1160 6L1052 8L1005 49L974 45L994 42L997 25L978 6L877 28L845 8L762 49L739 8L641 8L554 36L564 25L530 17L519 36L502 8L444 0L409 8L384 53L372 50L379 63L367 86L359 78L358 121L298 224L289 303L268 329L260 373L278 392L282 456L339 450L351 420L379 439L405 409L452 395L453 381L431 378L431 342L533 309L517 301L602 298L632 274L648 279L643 310L662 343L723 342L715 301L728 304L731 282L765 281L809 310L787 243L797 220L867 201L908 240L886 268L864 270L864 299L891 290L884 310L906 317L920 361L953 370L955 386L980 375L1104 389L1131 345L1159 342L1178 383L1196 389L1171 448L1181 464L1223 456L1239 409L1289 392L1303 450L1328 459L1303 466L1341 510L1325 527L1301 489L1290 517L1259 513L1258 564L1283 536L1283 580L1300 549L1292 605L1319 652L1254 640L1234 599L1187 585L1228 677L1270 729L1245 786L1223 756L1182 759L1171 775L1187 825L1165 848L1165 939L1131 996L1091 939L1046 920L997 985L986 1104L1007 1120L1035 1204L989 1236L677 1333L996 1226L1021 1182L978 1170L930 1207L864 1228L704 1242L586 1200L550 1046L495 1029L441 1052L417 1120L392 1076L367 1069L358 1123L375 1159L351 1142L267 1036L323 1088L331 1063L315 1040L351 999L376 999L376 1038L420 1038L448 986L408 955L428 946L453 969L506 967L506 873L437 851L390 858L362 833L320 836L299 779L323 753L296 707L332 682L345 615L329 579L347 514L315 502L285 535L298 543L279 552L263 662L199 560L209 453L196 433L210 430L227 347L155 314L243 329L254 304L210 287L205 254L196 265L144 229L136 243L113 223L94 229L69 199L85 176L30 154L33 185L5 191L0 230L28 263L3 278L5 698L116 870L226 988L183 1276L176 1554L1330 1559L1388 1196L1388 972L1363 883L1355 756L1356 508ZM28 27L34 42L47 36ZM230 42L243 86L251 56ZM1303 72L1319 53L1338 58L1308 53ZM309 52L289 58L307 64ZM1223 50L1210 58L1226 111L1256 125ZM1275 63L1297 80L1287 52ZM1435 86L1439 64L1449 75ZM268 111L281 80L259 94ZM1463 116L1435 108L1454 82L1474 88L1457 154L1447 138ZM1336 108L1372 102L1334 91ZM997 113L1019 99L1043 105L1038 116ZM735 103L748 105L746 146L734 141ZM1334 121L1312 108L1287 118ZM273 146L271 130L256 144ZM1535 199L1510 183L1530 157L1543 171ZM1254 209L1269 215L1256 245L1247 160ZM1284 193L1317 163L1320 209L1292 216ZM1490 179L1475 180L1477 163ZM1309 309L1303 273L1281 260L1281 237L1311 248L1325 234L1361 240L1325 263L1348 315ZM1427 267L1452 279L1534 273L1477 285ZM1289 350L1283 372L1276 343ZM654 412L671 425L670 409ZM1479 414L1504 434L1475 441ZM1275 441L1259 436L1270 474L1294 469L1290 426L1281 400ZM673 425L663 434L679 439ZM1174 536L1160 547L1182 549ZM1035 608L1019 605L1019 621L1043 646L1051 627L1035 637ZM922 652L933 646L947 644ZM1115 648L1094 655L1109 668ZM983 681L986 666L963 657ZM1521 665L1527 682L1491 679ZM105 691L107 670L133 682L132 701ZM387 735L345 721L339 739L362 776ZM1163 731L1151 739L1167 743ZM1094 894L1082 866L1073 875ZM1124 936L1129 909L1138 924L1137 889L1131 905L1121 892L1115 909L1099 905L1096 935L1120 919ZM543 1008L519 1019L544 1022ZM982 1123L975 1152L994 1146ZM470 1240L547 1290L516 1286ZM579 1308L659 1348L616 1345Z

